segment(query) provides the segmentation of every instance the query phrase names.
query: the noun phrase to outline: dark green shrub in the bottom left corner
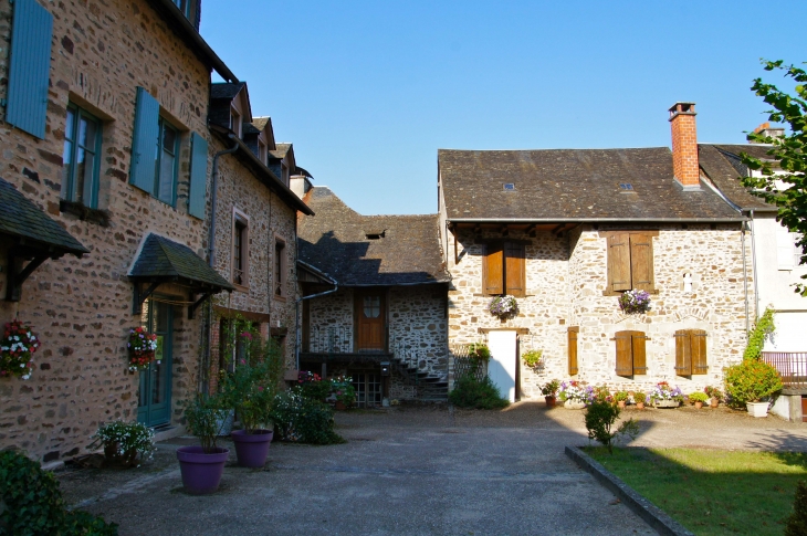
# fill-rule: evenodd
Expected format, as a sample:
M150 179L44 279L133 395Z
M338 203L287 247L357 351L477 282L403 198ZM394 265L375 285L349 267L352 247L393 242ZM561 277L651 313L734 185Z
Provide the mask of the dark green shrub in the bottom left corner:
M115 536L117 525L65 509L59 481L39 462L0 452L0 533L20 536Z

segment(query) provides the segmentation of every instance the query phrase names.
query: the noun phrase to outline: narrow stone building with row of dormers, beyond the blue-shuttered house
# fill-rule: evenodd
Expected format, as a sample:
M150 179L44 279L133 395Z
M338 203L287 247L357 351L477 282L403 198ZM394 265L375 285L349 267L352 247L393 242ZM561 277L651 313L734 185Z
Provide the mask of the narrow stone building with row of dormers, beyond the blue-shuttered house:
M220 155L213 178L216 239L209 258L234 286L214 299L211 347L218 354L211 356L212 389L214 372L228 365L219 337L234 317L274 337L289 367L296 368L297 211L310 217L314 212L289 189L290 174L298 174L291 144L275 144L269 117L252 117L244 82L212 84L209 124L209 156Z

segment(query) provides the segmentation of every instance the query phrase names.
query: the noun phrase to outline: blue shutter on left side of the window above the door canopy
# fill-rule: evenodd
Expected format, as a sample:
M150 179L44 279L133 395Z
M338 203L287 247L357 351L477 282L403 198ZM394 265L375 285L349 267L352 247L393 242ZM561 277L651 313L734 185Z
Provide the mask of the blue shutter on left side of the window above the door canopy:
M159 103L146 90L138 87L129 182L149 193L154 193L158 139Z

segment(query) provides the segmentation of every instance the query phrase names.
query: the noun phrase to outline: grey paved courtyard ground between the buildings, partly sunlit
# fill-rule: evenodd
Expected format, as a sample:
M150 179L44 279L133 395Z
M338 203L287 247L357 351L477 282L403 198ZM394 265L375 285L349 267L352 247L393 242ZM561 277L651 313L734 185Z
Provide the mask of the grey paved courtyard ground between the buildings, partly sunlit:
M807 451L807 425L727 409L625 412L632 443ZM129 471L67 469L70 504L120 535L622 535L654 534L564 455L586 444L583 412L522 402L504 411L447 407L339 412L346 444L273 443L263 470L234 464L219 493L182 492L174 451ZM228 441L224 444L229 445Z

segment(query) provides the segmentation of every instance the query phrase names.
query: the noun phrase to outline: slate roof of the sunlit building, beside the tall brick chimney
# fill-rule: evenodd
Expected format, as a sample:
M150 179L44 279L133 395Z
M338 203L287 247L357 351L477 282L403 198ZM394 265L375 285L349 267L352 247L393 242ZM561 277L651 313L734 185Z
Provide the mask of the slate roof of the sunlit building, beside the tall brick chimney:
M438 151L451 221L737 221L709 188L684 191L667 147ZM505 191L504 185L514 185ZM630 183L627 192L620 183Z

